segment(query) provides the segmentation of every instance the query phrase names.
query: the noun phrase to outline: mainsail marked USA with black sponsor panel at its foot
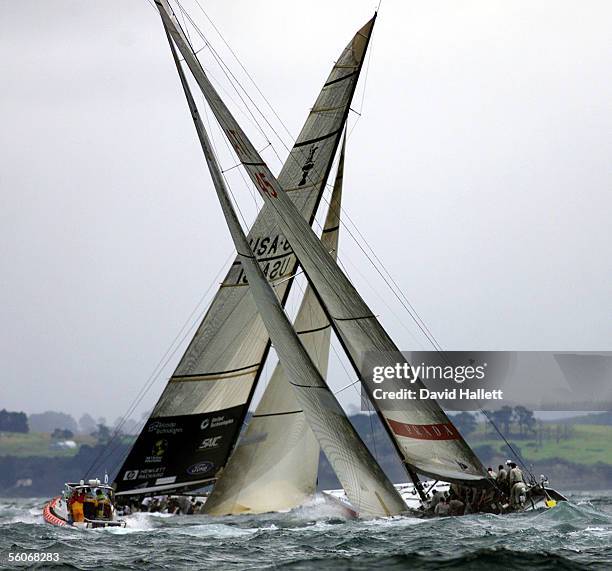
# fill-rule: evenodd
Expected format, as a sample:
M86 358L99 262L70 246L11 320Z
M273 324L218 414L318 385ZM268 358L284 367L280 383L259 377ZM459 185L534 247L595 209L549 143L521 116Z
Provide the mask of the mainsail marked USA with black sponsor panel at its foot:
M170 10L165 1L158 7ZM370 28L355 35L333 66L278 177L309 223L346 122ZM190 56L195 58L193 52ZM195 62L191 59L190 67L199 66ZM197 114L193 101L190 109ZM269 206L262 208L248 238L284 302L297 260ZM121 467L118 493L153 493L214 480L238 437L268 349L268 334L236 259Z

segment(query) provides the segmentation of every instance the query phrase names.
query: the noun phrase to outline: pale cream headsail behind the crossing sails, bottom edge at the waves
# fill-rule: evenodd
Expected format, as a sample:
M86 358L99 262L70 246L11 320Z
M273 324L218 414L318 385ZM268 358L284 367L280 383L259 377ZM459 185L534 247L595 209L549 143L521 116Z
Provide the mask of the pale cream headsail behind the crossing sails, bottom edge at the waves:
M341 209L343 143L321 242L335 257ZM331 327L311 287L294 329L322 377L327 376ZM204 505L210 515L283 511L316 491L319 444L278 363L247 429Z

